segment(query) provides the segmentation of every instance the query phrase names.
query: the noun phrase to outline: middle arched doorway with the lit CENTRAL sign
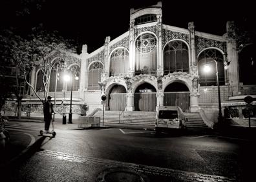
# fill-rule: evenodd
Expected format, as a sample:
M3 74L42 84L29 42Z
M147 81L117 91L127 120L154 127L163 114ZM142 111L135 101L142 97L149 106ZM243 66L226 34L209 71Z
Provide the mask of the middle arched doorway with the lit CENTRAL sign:
M153 85L144 83L136 88L134 93L134 110L156 110L156 89Z

